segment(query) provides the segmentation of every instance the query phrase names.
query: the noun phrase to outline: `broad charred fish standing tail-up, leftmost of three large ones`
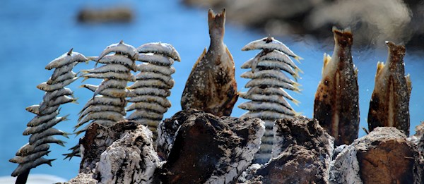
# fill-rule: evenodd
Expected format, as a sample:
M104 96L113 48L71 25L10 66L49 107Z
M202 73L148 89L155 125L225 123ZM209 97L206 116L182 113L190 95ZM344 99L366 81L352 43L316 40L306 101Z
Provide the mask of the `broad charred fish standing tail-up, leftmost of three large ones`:
M198 109L216 116L230 116L237 102L234 60L223 42L225 9L208 11L211 44L192 68L182 93L182 109Z

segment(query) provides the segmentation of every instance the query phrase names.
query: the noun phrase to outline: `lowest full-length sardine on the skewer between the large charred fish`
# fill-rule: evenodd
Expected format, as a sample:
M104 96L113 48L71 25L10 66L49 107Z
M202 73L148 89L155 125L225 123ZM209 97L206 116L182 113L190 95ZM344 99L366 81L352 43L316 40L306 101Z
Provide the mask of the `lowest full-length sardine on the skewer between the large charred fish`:
M238 107L248 111L276 111L289 116L295 116L293 109L274 102L245 102Z

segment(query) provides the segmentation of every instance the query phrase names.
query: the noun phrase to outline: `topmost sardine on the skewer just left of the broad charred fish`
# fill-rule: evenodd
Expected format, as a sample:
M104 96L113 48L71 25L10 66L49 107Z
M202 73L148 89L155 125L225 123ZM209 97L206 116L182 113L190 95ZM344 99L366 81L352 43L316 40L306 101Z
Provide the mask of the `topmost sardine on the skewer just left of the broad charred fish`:
M154 54L163 54L168 56L175 61L181 61L178 51L172 47L171 44L165 44L160 42L143 44L140 47L137 47L139 53L154 53Z

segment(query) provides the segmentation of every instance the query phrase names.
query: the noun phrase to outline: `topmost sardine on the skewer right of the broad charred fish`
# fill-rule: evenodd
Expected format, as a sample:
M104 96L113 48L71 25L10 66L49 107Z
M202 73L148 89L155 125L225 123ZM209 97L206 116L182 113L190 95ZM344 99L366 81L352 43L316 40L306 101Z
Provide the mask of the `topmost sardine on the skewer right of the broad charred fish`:
M302 59L300 56L296 55L293 51L291 51L287 46L285 46L285 44L274 39L271 36L264 37L262 39L258 39L253 42L250 42L249 44L245 45L245 47L242 48L242 51L250 51L250 50L257 50L257 49L278 50L278 51L282 51L284 54L287 54L288 56L295 58L295 60L297 61L300 61Z

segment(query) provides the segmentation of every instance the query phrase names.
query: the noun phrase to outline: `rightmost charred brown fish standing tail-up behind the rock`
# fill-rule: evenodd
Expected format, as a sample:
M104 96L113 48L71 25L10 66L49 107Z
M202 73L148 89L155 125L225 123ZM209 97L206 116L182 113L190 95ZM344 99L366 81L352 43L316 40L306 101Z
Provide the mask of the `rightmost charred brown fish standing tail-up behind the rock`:
M405 46L386 42L388 57L386 63L377 63L375 88L372 92L368 111L368 129L379 126L393 126L409 136L409 99L411 80L405 76Z

